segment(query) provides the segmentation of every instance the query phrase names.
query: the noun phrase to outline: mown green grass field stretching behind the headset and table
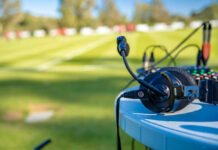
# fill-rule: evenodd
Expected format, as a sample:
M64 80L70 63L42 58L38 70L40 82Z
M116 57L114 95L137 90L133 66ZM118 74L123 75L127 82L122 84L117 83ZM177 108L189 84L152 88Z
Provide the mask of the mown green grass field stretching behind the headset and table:
M129 63L133 69L141 67L146 46L172 49L190 32L126 34ZM209 61L216 71L217 35L214 29ZM29 150L46 138L53 140L47 150L115 149L114 99L131 79L116 51L117 36L0 39L0 149ZM201 41L198 31L187 43L200 46ZM177 63L195 64L195 56L196 51L188 49ZM41 110L55 110L55 115L46 122L25 123L29 113ZM130 149L130 138L122 137Z

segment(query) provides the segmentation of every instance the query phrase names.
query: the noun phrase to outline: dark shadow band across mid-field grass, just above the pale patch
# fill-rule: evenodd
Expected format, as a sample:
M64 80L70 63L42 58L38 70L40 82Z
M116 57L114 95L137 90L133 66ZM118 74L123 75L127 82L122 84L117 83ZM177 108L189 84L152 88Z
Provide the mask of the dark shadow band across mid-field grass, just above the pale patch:
M4 101L7 97L14 97L14 99L22 100L22 96L37 96L49 99L51 103L55 101L84 105L98 103L106 106L113 103L114 98L128 80L129 78L125 77L46 82L24 79L4 80L0 81L0 99ZM31 99L29 101L31 102Z

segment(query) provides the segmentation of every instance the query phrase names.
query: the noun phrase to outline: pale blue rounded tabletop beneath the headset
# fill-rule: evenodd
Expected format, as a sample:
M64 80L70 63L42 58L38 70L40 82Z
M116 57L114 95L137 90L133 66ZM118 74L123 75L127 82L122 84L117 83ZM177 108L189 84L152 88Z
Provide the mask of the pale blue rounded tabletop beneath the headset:
M140 100L121 98L120 127L157 150L218 150L218 106L194 100L174 113L149 111Z

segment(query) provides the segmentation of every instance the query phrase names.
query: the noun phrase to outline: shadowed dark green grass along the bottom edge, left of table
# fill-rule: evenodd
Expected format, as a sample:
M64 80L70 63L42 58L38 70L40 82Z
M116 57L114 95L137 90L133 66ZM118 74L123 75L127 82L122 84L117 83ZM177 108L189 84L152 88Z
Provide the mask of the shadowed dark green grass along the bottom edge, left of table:
M9 123L5 123L5 125L9 128L12 126ZM19 128L19 131L15 127ZM5 146L0 144L1 149L33 149L46 138L51 138L52 143L45 149L116 149L115 120L107 117L100 120L93 118L53 118L50 121L38 124L15 123L7 136L11 136L8 138L13 142ZM122 132L121 137L123 148L130 148L130 137L124 132Z

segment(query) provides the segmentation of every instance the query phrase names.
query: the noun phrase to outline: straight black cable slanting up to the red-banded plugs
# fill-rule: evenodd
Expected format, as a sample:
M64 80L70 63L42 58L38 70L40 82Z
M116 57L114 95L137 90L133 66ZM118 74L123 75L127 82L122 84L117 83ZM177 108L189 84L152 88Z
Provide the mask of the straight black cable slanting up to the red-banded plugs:
M154 66L159 65L162 61L166 60L170 55L172 55L183 43L185 43L193 34L195 34L203 25L202 23L198 28L196 28L194 31L192 31L182 42L180 42L173 50L171 50L164 58L159 60Z

